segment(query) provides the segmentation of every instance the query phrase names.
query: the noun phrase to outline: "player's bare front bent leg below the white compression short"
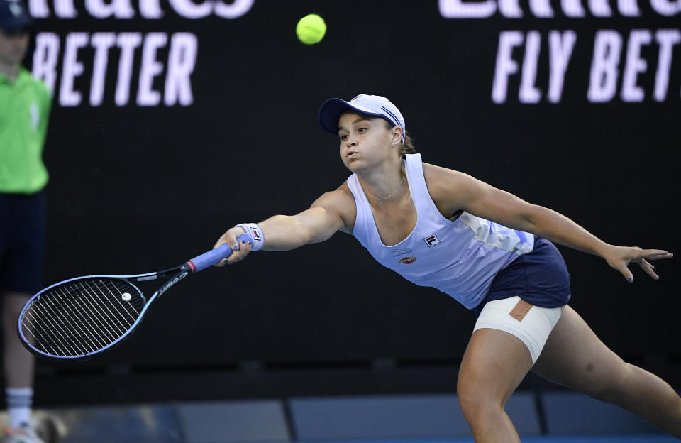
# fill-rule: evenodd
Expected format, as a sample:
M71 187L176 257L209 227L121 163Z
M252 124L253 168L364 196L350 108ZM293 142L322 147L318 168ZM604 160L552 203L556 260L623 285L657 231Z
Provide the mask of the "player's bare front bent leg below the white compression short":
M498 329L477 329L461 362L457 395L476 443L520 442L504 411L532 367L527 346Z

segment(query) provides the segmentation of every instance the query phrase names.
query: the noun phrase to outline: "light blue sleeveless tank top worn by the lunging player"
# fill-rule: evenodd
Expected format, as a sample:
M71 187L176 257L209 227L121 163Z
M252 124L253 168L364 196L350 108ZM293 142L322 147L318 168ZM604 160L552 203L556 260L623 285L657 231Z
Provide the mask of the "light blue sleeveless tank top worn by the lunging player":
M383 266L421 286L438 288L472 309L485 299L499 270L532 251L534 236L463 212L443 217L428 193L421 154L405 155L406 180L416 207L416 226L406 239L385 246L357 175L348 177L357 218L353 235Z

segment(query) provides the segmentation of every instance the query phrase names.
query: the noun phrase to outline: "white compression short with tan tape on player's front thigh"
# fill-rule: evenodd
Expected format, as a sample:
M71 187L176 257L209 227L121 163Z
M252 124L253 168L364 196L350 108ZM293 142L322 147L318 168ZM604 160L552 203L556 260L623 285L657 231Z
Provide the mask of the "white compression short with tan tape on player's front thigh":
M492 300L482 308L473 332L499 329L518 337L530 351L534 364L562 313L563 307L534 306L518 296Z

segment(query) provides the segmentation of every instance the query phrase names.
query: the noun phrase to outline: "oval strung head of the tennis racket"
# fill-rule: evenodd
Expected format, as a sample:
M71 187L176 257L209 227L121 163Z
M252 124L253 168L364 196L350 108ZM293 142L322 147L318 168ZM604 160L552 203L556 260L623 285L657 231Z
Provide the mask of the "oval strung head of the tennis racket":
M130 300L123 298L129 294ZM145 300L121 279L84 278L40 295L21 319L31 344L55 356L82 356L114 343L135 324Z

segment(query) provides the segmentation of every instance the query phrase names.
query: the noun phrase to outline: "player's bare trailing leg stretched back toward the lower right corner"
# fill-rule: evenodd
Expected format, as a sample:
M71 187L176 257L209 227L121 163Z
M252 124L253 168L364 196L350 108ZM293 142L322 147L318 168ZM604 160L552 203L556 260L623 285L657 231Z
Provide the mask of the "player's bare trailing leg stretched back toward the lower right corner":
M625 363L569 306L548 337L533 371L619 405L681 438L681 398L675 390L658 376Z

